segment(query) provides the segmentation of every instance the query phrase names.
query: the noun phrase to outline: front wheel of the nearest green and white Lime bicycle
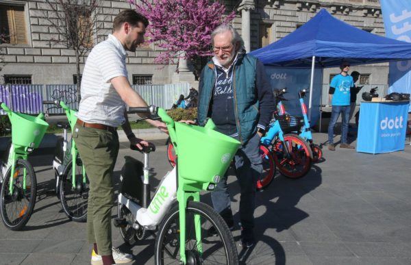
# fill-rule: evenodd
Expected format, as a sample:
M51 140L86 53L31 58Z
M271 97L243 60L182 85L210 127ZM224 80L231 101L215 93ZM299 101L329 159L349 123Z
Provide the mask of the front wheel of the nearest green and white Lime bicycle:
M194 217L201 220L201 242L195 239ZM215 234L208 233L214 227ZM179 210L176 203L162 220L155 239L155 264L180 264ZM234 238L223 218L205 203L188 201L186 207L186 264L238 264ZM202 249L198 251L197 246Z

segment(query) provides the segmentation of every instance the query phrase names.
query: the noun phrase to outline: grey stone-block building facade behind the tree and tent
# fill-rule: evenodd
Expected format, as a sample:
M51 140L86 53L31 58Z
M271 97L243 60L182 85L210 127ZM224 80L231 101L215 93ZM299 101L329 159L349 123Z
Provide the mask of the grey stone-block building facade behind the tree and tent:
M294 31L321 8L360 29L384 36L384 24L378 0L223 0L227 10L235 10L233 21L248 51L264 47L271 42L283 38ZM98 36L103 40L112 31L114 16L121 10L132 8L126 1L101 1ZM12 10L12 13L9 11ZM9 12L9 13L7 13ZM21 31L21 40L15 44L0 44L3 56L3 71L8 81L17 77L27 77L31 84L73 84L75 79L75 53L63 45L53 42L55 29L49 25L47 16L52 16L49 6L44 0L0 0L0 29L10 21L5 14L12 14L14 30ZM10 18L9 18L10 19ZM23 23L23 24L22 24ZM1 31L0 31L1 33ZM138 48L129 53L127 64L129 81L132 84L169 84L175 81L191 81L193 76L187 72L189 66L185 62L179 64L179 74L175 73L177 64L154 64L154 58L160 53L155 45ZM81 58L84 62L86 58ZM364 74L363 81L369 84L386 84L388 80L388 64L356 66ZM82 69L81 69L82 70ZM338 68L325 68L323 83L329 82L330 75L338 73ZM10 79L15 77L14 79ZM1 82L1 81L0 81Z

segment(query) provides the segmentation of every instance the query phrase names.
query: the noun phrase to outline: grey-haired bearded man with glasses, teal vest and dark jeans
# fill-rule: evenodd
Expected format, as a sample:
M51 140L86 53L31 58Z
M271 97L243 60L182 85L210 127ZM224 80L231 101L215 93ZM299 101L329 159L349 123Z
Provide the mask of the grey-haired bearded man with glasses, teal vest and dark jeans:
M216 130L242 143L234 160L240 184L241 245L255 243L254 199L262 173L259 144L275 109L271 85L261 62L245 54L244 42L231 25L220 25L211 35L214 58L204 67L199 83L198 120L211 117ZM211 194L214 210L234 229L227 175ZM213 231L209 231L212 233Z

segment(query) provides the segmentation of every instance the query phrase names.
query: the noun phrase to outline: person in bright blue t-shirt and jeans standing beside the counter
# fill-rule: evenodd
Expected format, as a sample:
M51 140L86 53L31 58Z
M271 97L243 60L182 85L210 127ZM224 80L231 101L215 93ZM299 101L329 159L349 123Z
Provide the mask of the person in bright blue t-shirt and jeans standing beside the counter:
M348 124L350 110L350 90L354 86L353 77L348 75L349 63L342 62L340 64L341 73L332 78L329 84L329 104L332 105L331 119L328 125L328 149L335 151L334 146L334 126L341 113L342 129L341 129L341 148L353 149L354 147L348 144Z

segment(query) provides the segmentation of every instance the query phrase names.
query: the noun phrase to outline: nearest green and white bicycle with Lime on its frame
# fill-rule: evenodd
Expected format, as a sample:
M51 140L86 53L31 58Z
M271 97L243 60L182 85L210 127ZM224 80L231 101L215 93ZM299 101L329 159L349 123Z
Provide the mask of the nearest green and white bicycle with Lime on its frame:
M125 157L114 220L125 242L132 244L144 238L146 231L158 230L155 264L238 264L229 228L212 207L199 201L199 192L215 188L240 142L214 131L212 121L206 127L175 123L165 110L154 106L129 108L129 112L145 113L152 119L160 116L169 129L176 166L150 199L149 153L155 147L143 147L144 164ZM193 149L199 142L203 146ZM212 228L217 233L210 233Z

